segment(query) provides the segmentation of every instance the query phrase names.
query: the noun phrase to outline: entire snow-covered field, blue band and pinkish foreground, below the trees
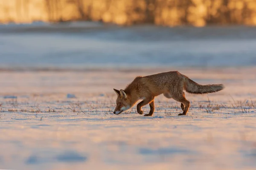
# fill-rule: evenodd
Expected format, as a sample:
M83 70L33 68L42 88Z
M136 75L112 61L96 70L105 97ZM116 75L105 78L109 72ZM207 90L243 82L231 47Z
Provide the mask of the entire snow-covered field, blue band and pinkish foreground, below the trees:
M256 169L253 28L33 29L0 27L0 169ZM113 88L173 70L225 89L113 114Z

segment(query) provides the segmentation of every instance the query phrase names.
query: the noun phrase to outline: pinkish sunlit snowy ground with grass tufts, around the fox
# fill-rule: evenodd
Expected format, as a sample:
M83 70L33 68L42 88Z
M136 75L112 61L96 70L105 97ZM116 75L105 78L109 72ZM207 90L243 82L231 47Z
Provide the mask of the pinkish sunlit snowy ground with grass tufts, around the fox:
M186 94L187 116L163 95L152 117L112 114L113 88L169 70L0 72L0 169L255 169L255 67L179 69L226 86Z

